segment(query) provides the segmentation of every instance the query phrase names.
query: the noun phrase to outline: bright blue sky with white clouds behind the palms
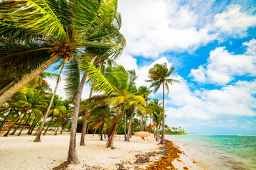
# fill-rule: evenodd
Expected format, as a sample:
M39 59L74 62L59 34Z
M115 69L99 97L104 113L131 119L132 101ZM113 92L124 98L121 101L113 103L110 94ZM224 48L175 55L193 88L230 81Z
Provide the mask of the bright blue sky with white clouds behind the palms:
M149 86L145 80L156 63L174 66L171 79L181 81L165 94L166 125L256 135L256 1L118 3L127 46L117 63L136 70L137 87ZM65 98L63 88L61 82L57 94ZM89 91L85 86L82 98ZM149 97L162 101L162 89Z

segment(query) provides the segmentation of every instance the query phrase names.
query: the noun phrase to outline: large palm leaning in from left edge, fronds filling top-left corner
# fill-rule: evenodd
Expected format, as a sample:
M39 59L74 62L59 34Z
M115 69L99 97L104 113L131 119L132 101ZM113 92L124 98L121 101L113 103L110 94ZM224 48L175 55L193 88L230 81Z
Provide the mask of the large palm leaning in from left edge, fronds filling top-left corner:
M108 38L105 26L105 18L112 20L117 11L116 0L10 0L0 5L0 77L31 72L1 94L0 106L60 59L80 58L87 48L122 48Z

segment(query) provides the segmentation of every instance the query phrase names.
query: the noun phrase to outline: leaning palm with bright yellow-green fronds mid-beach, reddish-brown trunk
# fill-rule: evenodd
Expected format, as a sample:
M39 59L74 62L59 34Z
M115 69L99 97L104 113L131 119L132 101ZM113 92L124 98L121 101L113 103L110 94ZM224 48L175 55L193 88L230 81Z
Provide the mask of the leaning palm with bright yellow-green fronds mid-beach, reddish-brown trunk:
M112 124L112 128L108 135L107 147L114 147L114 133L117 129L117 123L121 117L121 108L125 103L137 102L144 104L145 100L142 96L137 96L132 93L134 88L134 81L137 78L134 74L134 70L126 71L124 67L117 65L116 67L108 67L103 72L105 79L111 84L112 91L106 91L106 94L95 95L88 98L88 106L111 106L115 109L117 115ZM95 85L95 90L99 85Z

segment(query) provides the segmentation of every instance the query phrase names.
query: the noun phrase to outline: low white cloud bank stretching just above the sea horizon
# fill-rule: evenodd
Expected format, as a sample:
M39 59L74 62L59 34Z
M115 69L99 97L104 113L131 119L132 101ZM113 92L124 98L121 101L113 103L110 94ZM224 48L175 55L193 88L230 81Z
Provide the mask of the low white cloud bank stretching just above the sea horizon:
M192 93L188 85L174 84L171 87L169 103L178 108L166 108L170 118L215 120L235 118L241 115L255 116L256 80L238 81L220 90L201 89ZM200 97L199 97L200 96Z

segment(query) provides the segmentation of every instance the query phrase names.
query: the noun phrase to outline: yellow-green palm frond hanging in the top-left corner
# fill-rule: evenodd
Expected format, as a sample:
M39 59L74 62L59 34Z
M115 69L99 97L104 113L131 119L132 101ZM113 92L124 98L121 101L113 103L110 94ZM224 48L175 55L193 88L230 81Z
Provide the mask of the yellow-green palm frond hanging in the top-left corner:
M61 17L56 13L50 0L23 0L1 2L0 26L10 30L24 28L31 34L44 35L56 41L68 40L65 28L60 22ZM33 15L31 15L33 13Z

